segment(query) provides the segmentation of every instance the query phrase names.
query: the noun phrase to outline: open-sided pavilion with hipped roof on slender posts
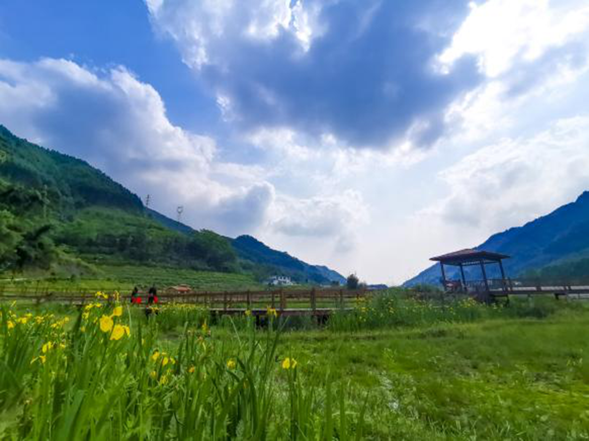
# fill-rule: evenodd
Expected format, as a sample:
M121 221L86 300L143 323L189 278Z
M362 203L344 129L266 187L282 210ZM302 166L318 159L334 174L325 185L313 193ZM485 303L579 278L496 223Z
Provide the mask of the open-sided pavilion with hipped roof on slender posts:
M443 254L442 256L432 257L429 260L440 263L442 268L442 284L444 289L452 286L452 281L446 279L446 271L444 266L457 266L460 268L462 276L462 290L467 291L466 277L464 276L464 267L480 266L482 271L482 282L484 283L485 291L489 292L489 278L485 267L489 264L498 264L501 271L501 286L505 286L505 270L503 268L502 260L509 258L506 254L494 253L492 251L466 249L454 251L454 253ZM456 282L458 283L458 282Z

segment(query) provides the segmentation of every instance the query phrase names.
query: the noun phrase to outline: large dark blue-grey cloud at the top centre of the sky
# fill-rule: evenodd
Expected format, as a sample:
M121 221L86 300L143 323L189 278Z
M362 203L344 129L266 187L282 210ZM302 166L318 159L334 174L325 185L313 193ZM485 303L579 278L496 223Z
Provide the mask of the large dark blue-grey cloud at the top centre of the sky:
M444 110L478 84L474 60L433 63L462 2L148 0L158 31L244 130L287 127L354 148L428 147Z

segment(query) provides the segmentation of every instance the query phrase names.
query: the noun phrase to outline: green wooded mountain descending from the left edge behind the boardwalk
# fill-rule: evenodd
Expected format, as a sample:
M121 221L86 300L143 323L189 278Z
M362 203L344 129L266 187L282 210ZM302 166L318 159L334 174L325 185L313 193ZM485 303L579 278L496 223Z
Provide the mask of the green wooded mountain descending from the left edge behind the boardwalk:
M248 247L240 238L197 231L148 210L137 195L85 161L39 147L0 125L0 271L151 264L247 271L260 279L280 273L318 283L339 276L266 246L260 252Z

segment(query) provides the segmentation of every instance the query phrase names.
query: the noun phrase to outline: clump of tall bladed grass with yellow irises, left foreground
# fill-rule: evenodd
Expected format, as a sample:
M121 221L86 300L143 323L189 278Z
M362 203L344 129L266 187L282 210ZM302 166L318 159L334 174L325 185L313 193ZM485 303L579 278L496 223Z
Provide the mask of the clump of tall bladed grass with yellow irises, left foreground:
M316 394L293 354L277 357L281 330L252 317L214 339L198 310L142 316L94 303L68 321L2 307L2 439L340 439L361 417ZM176 340L161 333L183 323ZM319 412L319 413L317 413ZM322 415L322 417L317 417ZM343 431L343 432L342 432ZM350 435L351 434L351 435Z

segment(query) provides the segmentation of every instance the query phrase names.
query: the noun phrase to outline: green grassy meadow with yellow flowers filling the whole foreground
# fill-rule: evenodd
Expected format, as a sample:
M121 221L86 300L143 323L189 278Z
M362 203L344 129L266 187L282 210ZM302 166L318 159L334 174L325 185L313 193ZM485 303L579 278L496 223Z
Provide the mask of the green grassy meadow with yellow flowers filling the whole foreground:
M108 297L108 299L105 299ZM323 326L5 304L2 439L587 439L589 309L398 291Z

